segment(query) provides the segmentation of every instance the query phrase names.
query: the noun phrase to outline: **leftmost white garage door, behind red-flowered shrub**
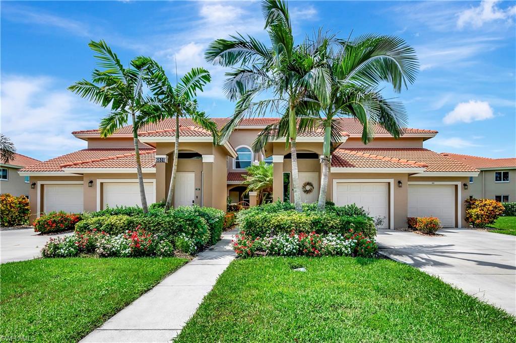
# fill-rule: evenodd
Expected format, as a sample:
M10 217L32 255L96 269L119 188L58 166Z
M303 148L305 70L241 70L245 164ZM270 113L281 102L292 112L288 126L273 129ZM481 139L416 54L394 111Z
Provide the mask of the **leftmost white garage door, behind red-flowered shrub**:
M65 211L82 213L82 184L45 184L43 188L43 212Z

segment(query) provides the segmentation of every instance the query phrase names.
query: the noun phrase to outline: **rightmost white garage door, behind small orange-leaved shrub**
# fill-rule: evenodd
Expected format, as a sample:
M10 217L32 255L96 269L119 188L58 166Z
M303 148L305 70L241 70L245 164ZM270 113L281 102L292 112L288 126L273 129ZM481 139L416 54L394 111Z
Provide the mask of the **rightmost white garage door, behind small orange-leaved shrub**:
M443 227L455 227L455 186L410 184L409 217L437 217Z

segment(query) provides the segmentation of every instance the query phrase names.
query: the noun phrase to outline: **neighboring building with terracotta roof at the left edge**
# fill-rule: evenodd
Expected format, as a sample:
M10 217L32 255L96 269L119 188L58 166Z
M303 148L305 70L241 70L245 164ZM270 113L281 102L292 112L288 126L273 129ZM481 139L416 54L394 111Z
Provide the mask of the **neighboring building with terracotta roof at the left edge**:
M14 196L29 195L29 176L18 175L18 170L41 161L28 156L14 154L9 163L0 163L0 193Z

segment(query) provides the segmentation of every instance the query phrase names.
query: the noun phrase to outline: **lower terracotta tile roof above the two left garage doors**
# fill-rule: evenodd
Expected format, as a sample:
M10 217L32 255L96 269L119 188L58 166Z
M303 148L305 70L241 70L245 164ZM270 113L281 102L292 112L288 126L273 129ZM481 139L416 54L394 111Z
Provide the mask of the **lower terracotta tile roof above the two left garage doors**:
M154 149L140 148L142 168L155 166ZM83 149L54 159L30 165L20 171L63 171L63 168L136 168L134 149Z

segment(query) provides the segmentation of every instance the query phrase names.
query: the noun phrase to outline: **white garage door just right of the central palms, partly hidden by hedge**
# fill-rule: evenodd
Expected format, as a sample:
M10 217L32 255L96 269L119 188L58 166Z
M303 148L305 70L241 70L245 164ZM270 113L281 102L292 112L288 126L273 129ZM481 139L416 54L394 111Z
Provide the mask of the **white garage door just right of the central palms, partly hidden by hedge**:
M383 218L380 229L389 227L388 183L337 183L335 204L343 206L354 203L363 207L373 218Z

